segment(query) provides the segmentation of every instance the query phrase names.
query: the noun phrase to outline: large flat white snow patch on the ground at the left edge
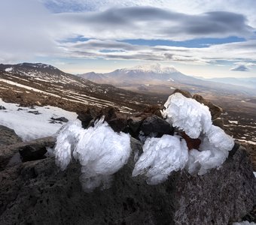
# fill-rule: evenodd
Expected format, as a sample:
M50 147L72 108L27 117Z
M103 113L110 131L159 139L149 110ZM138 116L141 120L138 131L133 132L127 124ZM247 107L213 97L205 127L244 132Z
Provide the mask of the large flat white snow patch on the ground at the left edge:
M65 117L69 120L78 117L76 113L58 107L35 107L35 110L32 110L28 107L18 107L17 104L5 103L2 99L0 99L0 105L6 108L6 110L0 110L0 124L14 129L23 141L52 136L56 133L63 124L51 124L51 117ZM29 111L38 111L41 114L35 115L28 113Z

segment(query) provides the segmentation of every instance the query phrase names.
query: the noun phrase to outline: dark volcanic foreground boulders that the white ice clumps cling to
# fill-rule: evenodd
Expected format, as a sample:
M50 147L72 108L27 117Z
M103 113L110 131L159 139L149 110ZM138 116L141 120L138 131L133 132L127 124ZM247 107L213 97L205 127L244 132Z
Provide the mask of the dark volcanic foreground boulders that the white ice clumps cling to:
M186 95L186 93L184 93ZM199 97L198 97L199 98ZM199 98L203 101L201 98ZM209 104L205 101L205 104ZM221 126L221 109L210 107ZM84 127L105 115L116 131L129 132L132 154L114 174L107 190L82 190L81 166L73 161L60 171L47 154L56 139L20 142L15 133L0 127L0 224L232 224L254 221L256 179L248 151L238 143L220 169L205 175L173 172L163 184L148 185L143 175L132 177L134 157L142 153L145 136L173 133L154 107L131 118L113 109L80 114ZM5 133L5 135L4 135ZM187 139L187 145L198 145Z

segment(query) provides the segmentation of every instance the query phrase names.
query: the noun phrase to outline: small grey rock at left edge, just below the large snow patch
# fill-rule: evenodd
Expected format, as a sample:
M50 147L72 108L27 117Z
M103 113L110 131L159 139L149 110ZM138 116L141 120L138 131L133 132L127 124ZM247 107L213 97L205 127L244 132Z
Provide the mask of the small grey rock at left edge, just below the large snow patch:
M14 145L17 142L22 142L20 136L17 136L14 130L0 125L0 146Z

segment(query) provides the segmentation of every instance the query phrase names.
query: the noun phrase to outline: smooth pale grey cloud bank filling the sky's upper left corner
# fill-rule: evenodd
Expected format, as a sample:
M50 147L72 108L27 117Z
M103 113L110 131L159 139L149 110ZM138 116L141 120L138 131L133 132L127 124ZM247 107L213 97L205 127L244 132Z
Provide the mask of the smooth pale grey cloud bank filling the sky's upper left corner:
M13 62L56 52L54 22L33 0L3 0L0 7L0 60Z

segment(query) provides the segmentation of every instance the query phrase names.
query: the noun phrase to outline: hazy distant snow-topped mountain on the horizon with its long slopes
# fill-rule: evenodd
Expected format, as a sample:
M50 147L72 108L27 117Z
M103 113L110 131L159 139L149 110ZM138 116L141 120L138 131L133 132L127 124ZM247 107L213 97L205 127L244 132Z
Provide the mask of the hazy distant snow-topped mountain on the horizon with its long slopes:
M246 94L256 95L253 86L242 83L222 82L222 80L201 80L187 76L175 68L159 64L139 65L135 68L123 68L107 74L90 72L78 77L101 84L112 84L134 92L154 92L168 95L170 89L186 89L194 92L212 92L215 95Z

